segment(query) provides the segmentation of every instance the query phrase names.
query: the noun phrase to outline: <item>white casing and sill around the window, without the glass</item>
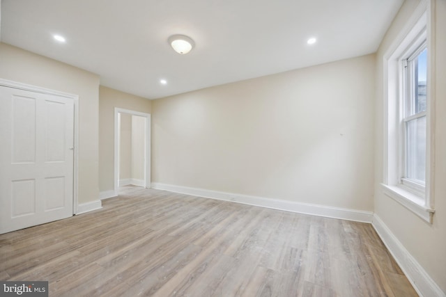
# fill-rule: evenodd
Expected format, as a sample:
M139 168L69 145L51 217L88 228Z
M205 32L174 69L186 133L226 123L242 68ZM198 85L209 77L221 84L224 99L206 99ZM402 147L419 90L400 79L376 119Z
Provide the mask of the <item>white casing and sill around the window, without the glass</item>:
M434 122L433 111L435 110L434 63L435 53L433 49L433 26L431 24L431 11L433 3L429 0L422 0L415 10L413 16L406 23L398 38L395 39L390 49L384 55L383 61L383 95L384 95L384 139L383 139L383 183L381 188L383 193L393 200L399 202L414 214L432 223L433 209L433 134ZM401 179L402 173L402 152L401 152L401 126L399 116L402 106L399 102L401 90L401 56L407 51L413 42L417 42L422 37L420 34L426 28L426 47L428 50L428 85L427 85L427 122L426 122L426 186L408 183ZM424 38L426 38L424 37ZM420 187L421 186L421 187Z

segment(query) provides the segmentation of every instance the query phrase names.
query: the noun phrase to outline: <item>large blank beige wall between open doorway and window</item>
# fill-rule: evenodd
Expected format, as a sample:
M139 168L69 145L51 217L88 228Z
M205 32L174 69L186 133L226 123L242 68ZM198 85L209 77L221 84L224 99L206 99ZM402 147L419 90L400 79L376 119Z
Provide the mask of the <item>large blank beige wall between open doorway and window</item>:
M375 56L153 101L153 182L373 211Z

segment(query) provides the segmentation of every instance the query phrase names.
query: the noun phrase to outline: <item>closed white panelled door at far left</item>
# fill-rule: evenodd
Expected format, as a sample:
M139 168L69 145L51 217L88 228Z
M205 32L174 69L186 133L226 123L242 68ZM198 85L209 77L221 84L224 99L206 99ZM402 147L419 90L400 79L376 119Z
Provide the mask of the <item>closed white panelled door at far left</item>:
M73 214L74 100L0 86L0 234Z

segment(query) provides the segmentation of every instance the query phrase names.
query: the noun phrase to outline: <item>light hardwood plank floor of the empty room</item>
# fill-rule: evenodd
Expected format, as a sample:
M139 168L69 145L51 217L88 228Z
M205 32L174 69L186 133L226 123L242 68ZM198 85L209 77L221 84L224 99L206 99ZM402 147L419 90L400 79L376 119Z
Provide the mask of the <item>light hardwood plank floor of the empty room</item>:
M0 235L0 280L49 296L417 296L370 224L123 187Z

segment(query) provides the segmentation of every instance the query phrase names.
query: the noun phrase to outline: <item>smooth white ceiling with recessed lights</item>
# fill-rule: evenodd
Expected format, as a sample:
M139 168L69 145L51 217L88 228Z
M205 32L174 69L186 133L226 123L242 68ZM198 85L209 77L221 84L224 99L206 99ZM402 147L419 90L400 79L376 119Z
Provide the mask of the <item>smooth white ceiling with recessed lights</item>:
M0 38L155 99L373 53L402 2L2 0ZM171 49L174 34L194 40L190 54Z

